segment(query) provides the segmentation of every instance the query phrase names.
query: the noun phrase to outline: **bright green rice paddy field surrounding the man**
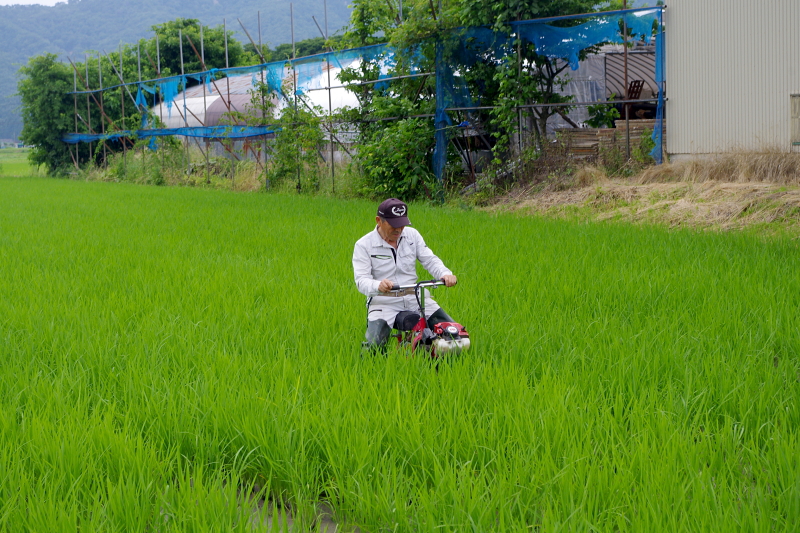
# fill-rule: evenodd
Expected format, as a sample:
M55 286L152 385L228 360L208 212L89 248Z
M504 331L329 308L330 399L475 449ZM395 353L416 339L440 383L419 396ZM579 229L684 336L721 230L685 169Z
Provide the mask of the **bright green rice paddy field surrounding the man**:
M412 205L437 369L361 356L375 207L0 179L0 530L797 531L797 240Z

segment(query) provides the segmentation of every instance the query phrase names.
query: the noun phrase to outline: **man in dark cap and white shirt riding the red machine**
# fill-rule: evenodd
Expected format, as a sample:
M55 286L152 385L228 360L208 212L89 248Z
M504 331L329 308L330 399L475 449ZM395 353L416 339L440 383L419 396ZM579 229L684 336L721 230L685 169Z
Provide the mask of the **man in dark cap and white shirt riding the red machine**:
M444 263L425 245L414 228L408 227L408 206L397 198L389 198L378 206L375 229L356 242L353 250L353 272L359 292L367 296L367 345L382 348L389 339L395 318L401 311L419 313L414 291L390 292L394 285L417 282L416 262L433 278L452 287L458 280ZM428 326L454 322L444 309L425 294Z

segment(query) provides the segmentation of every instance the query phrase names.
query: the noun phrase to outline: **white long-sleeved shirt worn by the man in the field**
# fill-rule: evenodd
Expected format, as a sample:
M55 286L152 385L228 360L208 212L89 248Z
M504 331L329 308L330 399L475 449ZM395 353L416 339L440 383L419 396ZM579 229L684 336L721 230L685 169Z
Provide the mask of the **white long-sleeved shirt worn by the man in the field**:
M414 228L403 228L395 250L383 240L376 226L361 237L353 249L353 273L358 291L365 296L378 295L378 285L384 279L397 285L416 283L417 260L435 279L452 274Z

